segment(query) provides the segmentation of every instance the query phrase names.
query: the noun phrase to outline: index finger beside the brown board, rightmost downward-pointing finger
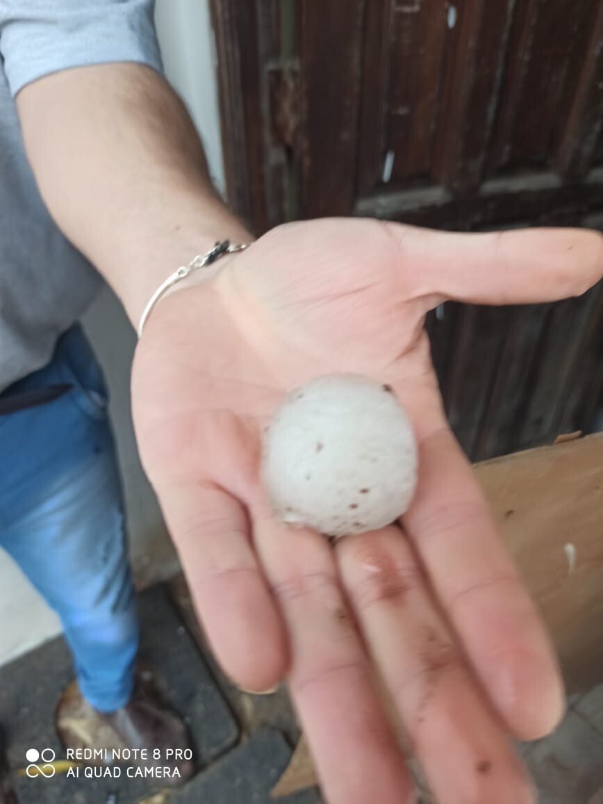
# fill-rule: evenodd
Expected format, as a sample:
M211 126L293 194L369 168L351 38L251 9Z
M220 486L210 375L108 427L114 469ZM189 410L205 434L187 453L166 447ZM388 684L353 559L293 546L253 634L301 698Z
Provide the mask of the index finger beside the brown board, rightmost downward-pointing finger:
M543 736L564 709L552 646L449 429L420 440L418 473L403 522L430 584L509 727Z

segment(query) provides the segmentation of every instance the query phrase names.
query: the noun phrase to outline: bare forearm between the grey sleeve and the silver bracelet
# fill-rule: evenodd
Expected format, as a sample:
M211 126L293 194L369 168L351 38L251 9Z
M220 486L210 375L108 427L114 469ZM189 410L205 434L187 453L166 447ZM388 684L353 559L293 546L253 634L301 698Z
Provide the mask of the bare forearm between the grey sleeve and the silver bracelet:
M40 191L136 326L157 285L216 240L250 235L211 186L201 142L165 80L137 64L46 76L17 96Z

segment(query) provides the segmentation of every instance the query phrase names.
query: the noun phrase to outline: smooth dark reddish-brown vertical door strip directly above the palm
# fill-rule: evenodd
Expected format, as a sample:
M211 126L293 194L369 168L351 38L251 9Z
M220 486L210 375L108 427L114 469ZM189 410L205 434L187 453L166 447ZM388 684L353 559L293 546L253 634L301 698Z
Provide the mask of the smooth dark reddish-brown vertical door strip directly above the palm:
M299 0L304 217L353 205L364 6Z

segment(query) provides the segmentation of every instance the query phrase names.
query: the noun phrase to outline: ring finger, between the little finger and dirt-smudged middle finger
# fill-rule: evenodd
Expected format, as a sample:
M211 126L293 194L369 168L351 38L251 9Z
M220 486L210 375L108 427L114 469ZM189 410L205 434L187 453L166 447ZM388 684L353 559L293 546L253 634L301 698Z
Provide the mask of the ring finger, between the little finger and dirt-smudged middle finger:
M259 515L255 541L287 622L288 683L329 804L401 804L412 786L325 539Z

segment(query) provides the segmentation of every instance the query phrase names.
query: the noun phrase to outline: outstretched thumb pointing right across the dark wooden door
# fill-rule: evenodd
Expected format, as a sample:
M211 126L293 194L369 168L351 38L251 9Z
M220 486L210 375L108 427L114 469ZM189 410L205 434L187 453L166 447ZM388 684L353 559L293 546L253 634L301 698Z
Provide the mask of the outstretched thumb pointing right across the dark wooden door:
M386 224L401 268L420 265L421 295L474 304L527 304L578 296L603 277L603 236L586 229L459 234Z

